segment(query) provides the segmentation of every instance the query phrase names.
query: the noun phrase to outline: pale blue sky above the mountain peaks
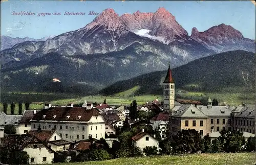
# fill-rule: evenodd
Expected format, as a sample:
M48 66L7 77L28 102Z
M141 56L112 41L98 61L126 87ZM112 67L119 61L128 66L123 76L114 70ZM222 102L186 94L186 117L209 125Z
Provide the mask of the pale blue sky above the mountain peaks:
M205 31L225 23L239 30L244 37L255 39L255 5L242 1L1 1L1 35L39 39L77 30L90 23L95 16L90 11L102 12L113 8L117 14L155 12L164 7L180 25L191 34L196 27ZM12 12L30 11L36 15L12 15ZM63 15L68 12L86 12L86 15ZM61 15L37 16L41 12L61 12Z

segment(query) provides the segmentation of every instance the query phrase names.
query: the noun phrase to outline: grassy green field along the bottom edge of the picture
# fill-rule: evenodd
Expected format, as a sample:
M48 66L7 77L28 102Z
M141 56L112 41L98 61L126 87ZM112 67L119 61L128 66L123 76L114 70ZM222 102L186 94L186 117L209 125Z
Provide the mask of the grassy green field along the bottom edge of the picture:
M255 153L189 154L184 156L153 156L140 158L118 158L105 161L59 163L59 165L122 165L122 164L185 164L185 165L242 165L254 164Z

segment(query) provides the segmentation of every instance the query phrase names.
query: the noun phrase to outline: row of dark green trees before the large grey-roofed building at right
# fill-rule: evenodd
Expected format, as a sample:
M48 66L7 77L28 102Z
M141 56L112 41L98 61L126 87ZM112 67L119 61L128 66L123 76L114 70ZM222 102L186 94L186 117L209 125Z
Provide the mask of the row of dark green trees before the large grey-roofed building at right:
M212 140L207 134L201 138L195 129L182 130L172 140L163 140L163 154L187 153L236 153L255 151L255 137L248 138L247 142L240 131L220 131L221 135Z

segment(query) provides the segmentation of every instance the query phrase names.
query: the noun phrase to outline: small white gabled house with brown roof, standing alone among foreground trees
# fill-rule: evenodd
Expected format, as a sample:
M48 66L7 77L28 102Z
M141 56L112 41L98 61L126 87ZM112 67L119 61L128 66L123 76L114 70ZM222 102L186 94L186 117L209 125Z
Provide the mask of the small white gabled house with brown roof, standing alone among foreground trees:
M154 135L155 136L155 135ZM151 136L142 129L141 132L132 137L133 145L140 148L142 151L145 147L156 146L159 149L159 142L156 137Z

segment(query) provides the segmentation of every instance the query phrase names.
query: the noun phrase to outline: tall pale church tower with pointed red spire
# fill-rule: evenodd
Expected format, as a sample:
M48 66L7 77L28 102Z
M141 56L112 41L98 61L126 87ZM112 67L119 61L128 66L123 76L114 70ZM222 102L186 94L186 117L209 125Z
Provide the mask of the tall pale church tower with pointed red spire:
M170 111L175 106L175 83L172 75L172 70L170 70L170 65L167 71L167 75L163 82L163 109Z

